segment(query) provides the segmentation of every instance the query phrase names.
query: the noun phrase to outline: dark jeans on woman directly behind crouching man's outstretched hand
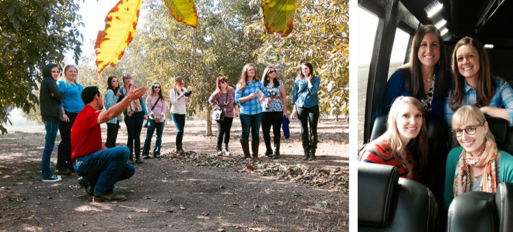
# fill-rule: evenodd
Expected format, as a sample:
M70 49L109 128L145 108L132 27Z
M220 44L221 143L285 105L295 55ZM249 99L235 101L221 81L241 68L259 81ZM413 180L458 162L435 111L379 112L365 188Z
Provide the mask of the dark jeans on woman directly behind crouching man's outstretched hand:
M130 149L130 159L133 159L133 151L135 151L135 158L139 160L139 156L141 154L141 130L143 122L144 112L142 111L134 112L132 116L124 118L124 124L127 125L127 147Z

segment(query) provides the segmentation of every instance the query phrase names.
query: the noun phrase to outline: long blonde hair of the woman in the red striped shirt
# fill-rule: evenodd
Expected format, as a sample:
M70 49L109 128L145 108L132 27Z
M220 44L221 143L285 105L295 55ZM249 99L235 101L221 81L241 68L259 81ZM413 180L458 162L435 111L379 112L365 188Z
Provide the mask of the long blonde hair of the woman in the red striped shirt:
M417 137L410 140L410 143L408 144L402 144L399 130L397 129L397 117L400 116L399 113L405 104L410 104L422 113L421 131ZM408 170L408 177L411 177L412 175L412 166L408 163L408 161L406 161L406 158L399 156L399 151L401 151L401 149L406 147L414 147L415 151L417 151L419 161L421 162L421 168L428 166L428 130L425 128L425 113L422 103L419 102L417 98L399 96L393 102L390 108L389 116L386 120L386 132L384 132L382 136L376 139L376 141L386 141L390 144L393 158L395 158L395 160L397 160L401 166Z

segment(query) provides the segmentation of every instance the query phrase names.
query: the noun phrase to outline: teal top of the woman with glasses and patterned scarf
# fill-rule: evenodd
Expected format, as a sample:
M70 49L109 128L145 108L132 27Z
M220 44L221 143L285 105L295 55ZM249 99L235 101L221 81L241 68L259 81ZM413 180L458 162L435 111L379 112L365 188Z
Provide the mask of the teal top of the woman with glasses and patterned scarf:
M463 147L454 147L447 155L447 162L445 163L445 186L443 191L443 198L445 200L445 209L449 209L452 199L454 198L453 184L454 173L456 172L456 164L460 158ZM513 182L513 156L508 152L501 151L501 160L499 172L497 175L497 184L502 182Z

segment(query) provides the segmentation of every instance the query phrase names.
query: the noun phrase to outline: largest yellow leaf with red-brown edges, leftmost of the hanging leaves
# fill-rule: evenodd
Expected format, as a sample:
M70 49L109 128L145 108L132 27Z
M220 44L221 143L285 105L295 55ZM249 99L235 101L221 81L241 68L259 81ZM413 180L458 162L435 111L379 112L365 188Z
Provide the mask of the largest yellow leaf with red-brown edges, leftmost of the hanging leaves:
M123 57L135 35L141 3L142 0L120 0L105 17L105 30L98 31L94 44L98 73L109 64L116 66Z

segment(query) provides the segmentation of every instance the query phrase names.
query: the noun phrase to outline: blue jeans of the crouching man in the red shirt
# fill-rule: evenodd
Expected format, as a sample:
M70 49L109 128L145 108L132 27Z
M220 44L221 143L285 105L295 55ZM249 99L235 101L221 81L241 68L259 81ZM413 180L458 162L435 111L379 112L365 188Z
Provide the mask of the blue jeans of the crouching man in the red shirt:
M94 195L111 194L116 182L129 179L135 173L133 165L128 163L129 155L128 147L99 150L77 158L75 172L94 186Z

